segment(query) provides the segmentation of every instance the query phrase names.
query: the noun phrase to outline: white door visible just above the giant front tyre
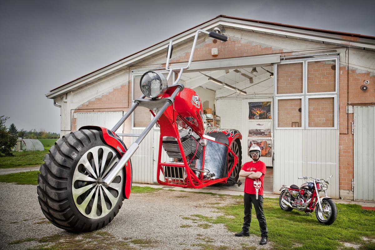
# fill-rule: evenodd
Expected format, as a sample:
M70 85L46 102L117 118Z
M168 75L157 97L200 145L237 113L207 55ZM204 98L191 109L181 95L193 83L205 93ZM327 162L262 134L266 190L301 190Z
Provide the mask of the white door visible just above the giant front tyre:
M77 129L83 126L100 126L112 129L113 126L123 117L123 112L82 112L77 113ZM123 132L121 125L116 133Z

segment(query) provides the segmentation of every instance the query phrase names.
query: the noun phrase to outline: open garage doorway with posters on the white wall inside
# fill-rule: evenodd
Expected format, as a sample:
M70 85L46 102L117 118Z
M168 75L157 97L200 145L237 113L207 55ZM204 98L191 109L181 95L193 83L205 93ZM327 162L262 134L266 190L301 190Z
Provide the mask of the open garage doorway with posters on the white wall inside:
M273 64L194 70L184 73L181 81L200 97L207 131L221 128L241 132L242 165L252 160L248 148L260 146L261 160L267 166L264 192L273 193ZM245 178L240 180L241 187L228 189L243 191Z

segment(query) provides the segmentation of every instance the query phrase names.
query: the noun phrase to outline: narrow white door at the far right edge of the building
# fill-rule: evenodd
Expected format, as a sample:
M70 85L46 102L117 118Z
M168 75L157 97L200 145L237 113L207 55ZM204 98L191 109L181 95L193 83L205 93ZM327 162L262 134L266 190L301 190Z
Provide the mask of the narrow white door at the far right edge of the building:
M375 106L354 108L354 199L375 201Z

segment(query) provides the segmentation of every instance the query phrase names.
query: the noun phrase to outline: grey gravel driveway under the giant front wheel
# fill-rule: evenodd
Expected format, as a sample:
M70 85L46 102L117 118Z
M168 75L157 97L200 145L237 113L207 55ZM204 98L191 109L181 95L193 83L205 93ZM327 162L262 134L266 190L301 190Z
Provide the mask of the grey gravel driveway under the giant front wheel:
M85 241L86 245L81 249L97 249L96 235L70 234L44 219L37 202L36 186L0 184L0 189L0 249L28 249L40 244L56 246L65 241L72 241L72 244ZM207 249L207 246L210 247L208 249L226 250L244 249L244 246L245 249L270 249L270 244L258 245L260 237L255 235L235 237L234 233L229 232L222 224L201 222L198 218L198 221L186 219L192 214L217 217L221 214L215 213L217 210L212 208L212 203L224 205L233 202L231 196L204 193L169 190L136 193L132 194L129 200L124 200L115 219L97 232L106 237L107 249L194 250ZM208 228L199 227L199 223L205 223ZM252 223L251 226L258 227L258 223ZM53 240L53 237L60 237L60 241ZM25 241L26 238L39 241L9 244L15 240Z

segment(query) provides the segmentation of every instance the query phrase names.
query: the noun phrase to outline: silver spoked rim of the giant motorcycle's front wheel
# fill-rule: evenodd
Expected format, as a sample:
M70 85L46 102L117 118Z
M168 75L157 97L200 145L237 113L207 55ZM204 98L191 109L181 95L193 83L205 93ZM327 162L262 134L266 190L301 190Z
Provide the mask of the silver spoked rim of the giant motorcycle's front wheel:
M77 209L84 216L98 219L109 214L117 204L123 187L123 172L104 187L102 179L118 162L114 150L106 146L90 148L79 160L72 180L72 195Z

